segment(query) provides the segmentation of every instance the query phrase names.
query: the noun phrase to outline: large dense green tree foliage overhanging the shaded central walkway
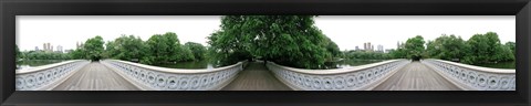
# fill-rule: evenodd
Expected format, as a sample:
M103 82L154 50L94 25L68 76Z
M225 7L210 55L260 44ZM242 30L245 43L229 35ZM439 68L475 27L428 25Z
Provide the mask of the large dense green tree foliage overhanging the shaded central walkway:
M303 68L320 68L327 52L326 38L314 26L314 15L226 15L221 30L208 39L218 62L233 64L261 59Z

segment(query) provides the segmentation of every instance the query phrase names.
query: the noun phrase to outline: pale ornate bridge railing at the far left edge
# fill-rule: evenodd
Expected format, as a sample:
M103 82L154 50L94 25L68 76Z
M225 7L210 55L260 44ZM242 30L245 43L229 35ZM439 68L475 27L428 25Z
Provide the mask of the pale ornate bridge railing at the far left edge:
M75 71L88 64L85 60L72 60L15 71L17 91L51 91Z

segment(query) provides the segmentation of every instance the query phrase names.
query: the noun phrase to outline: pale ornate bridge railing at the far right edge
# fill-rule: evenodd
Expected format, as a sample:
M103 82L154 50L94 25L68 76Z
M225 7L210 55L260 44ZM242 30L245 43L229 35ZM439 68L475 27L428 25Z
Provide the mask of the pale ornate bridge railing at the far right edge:
M466 91L514 91L516 70L480 67L442 60L423 60L441 76Z

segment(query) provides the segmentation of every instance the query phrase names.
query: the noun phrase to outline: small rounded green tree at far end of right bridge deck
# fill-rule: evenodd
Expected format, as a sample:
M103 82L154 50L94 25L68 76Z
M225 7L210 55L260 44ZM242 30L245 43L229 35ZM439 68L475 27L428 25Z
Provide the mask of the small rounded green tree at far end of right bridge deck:
M424 38L420 35L408 39L404 46L404 51L407 53L407 57L414 61L420 60L425 50L424 43Z

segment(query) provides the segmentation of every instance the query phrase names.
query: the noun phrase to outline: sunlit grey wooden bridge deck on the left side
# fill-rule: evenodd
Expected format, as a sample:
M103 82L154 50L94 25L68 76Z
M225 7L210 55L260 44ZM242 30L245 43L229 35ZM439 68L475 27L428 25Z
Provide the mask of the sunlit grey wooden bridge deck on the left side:
M139 91L116 72L92 62L56 86L53 91Z

